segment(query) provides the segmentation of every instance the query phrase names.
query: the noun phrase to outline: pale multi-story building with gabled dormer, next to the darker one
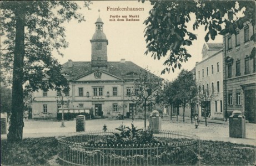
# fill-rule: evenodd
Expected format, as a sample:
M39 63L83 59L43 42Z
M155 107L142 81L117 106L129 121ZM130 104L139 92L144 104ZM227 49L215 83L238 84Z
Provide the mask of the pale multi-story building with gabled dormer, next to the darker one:
M207 90L210 94L207 117L223 120L223 72L222 43L205 43L202 49L202 61L195 65L195 81L199 90ZM213 93L213 95L212 95ZM197 104L199 117L204 116L204 110Z

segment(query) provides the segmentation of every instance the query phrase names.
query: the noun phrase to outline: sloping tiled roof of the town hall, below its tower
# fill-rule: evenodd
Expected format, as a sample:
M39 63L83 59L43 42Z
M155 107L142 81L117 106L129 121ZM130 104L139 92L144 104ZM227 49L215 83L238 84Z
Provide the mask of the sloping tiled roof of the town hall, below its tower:
M76 80L96 70L97 68L92 68L91 61L72 61L72 67L68 67L68 62L62 65L62 72L67 74L65 77L68 80ZM121 61L107 61L107 68L99 68L99 70L108 72L123 80L134 80L139 77L141 70L145 69L134 64L132 61L125 61L123 63Z

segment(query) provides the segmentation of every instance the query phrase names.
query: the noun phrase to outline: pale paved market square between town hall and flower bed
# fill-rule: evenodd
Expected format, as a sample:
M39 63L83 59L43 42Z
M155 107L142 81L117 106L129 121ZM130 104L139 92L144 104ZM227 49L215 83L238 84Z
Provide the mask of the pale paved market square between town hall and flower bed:
M217 121L218 122L218 121ZM191 124L190 120L186 118L185 123L182 122L181 117L179 117L178 122L176 118L172 121L169 117L165 117L162 121L162 129L170 131L181 131L185 133L193 133L199 136L200 139L212 140L212 141L225 141L232 143L243 143L256 145L256 124L246 123L246 138L229 138L229 125L228 122L219 121L223 124L210 123L205 126L204 122L199 123L198 129L194 128L194 123ZM130 126L132 120L87 120L86 121L86 131L102 130L103 126L106 124L108 129L114 129L122 125ZM138 128L144 127L143 120L135 120L134 126ZM149 122L147 121L147 126ZM43 121L43 120L29 120L24 121L23 137L51 137L51 136L64 136L67 133L76 132L76 120L65 121L66 127L61 128L61 122L58 121ZM5 135L1 135L1 139L6 138Z

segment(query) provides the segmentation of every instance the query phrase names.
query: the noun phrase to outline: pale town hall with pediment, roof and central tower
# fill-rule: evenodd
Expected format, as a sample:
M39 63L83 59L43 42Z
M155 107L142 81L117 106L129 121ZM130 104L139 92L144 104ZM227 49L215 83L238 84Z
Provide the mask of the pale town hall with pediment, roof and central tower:
M67 78L70 91L63 94L61 91L38 91L33 94L33 117L56 117L56 96L70 96L71 102L64 112L83 112L91 110L94 116L117 116L118 113L126 116L139 115L142 108L137 107L130 97L134 80L141 70L131 61L108 61L108 39L103 32L103 22L97 19L96 32L90 40L92 44L91 61L72 61L62 65L63 75ZM147 110L152 111L148 105Z

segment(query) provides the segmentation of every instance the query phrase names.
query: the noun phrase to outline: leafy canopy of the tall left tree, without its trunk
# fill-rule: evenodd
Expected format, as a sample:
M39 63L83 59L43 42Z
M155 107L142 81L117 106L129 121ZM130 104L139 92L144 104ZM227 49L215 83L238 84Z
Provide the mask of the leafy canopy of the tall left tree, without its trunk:
M89 2L84 6L88 8ZM23 85L24 92L38 89L66 88L67 81L61 75L61 65L53 58L53 50L58 54L68 47L65 28L62 23L72 18L84 21L80 7L74 1L2 1L1 36L7 51L1 51L1 82L12 80L14 40L16 21L21 17L25 27ZM10 81L9 81L10 82ZM12 81L11 81L12 82Z

